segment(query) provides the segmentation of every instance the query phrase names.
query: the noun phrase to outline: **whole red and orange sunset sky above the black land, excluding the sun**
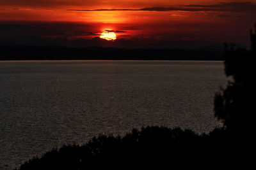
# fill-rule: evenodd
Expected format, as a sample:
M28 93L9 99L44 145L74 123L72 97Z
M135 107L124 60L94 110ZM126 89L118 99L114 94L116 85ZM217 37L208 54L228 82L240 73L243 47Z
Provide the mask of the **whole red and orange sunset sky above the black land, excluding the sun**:
M28 37L93 39L109 31L115 32L115 41L124 47L131 41L156 48L193 48L223 42L250 45L248 32L256 22L256 0L0 2L2 44Z

